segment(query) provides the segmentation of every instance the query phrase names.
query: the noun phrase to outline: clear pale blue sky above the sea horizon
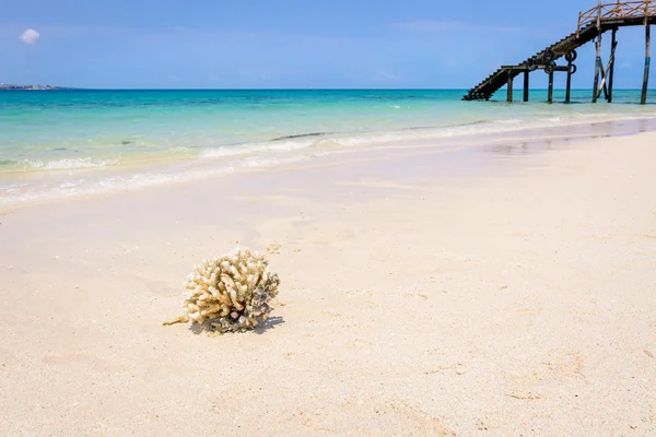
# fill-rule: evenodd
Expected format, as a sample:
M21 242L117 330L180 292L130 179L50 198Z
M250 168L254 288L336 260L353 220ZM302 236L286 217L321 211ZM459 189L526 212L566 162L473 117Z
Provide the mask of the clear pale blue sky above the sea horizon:
M575 31L579 10L595 4L2 0L0 83L468 88L499 66L517 63ZM39 34L35 44L20 38L28 28ZM637 88L644 29L620 29L619 42L616 86ZM579 50L576 63L574 86L590 87L591 44ZM546 86L546 74L532 76L534 86ZM564 76L557 76L562 86Z

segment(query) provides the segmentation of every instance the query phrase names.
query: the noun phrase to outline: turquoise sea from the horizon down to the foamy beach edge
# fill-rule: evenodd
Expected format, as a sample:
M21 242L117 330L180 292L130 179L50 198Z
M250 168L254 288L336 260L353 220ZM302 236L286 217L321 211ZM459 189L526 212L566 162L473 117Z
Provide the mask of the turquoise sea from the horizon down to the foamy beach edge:
M614 103L461 102L465 91L4 91L0 206L266 165L305 153L656 117L637 91ZM557 92L557 101L563 99ZM520 99L520 91L515 99ZM651 93L652 102L656 93ZM211 164L210 164L211 163ZM138 165L138 167L134 167ZM132 166L132 167L130 167ZM126 168L132 168L126 172ZM156 167L156 170L155 170ZM112 170L120 172L114 174Z

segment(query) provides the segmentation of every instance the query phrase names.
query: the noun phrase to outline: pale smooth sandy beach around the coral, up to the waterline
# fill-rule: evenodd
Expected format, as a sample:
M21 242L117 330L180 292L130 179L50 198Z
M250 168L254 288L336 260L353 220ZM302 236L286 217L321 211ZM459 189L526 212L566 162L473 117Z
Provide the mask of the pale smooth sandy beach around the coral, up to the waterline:
M342 154L4 212L0 435L655 435L655 144ZM267 329L162 327L237 245L282 279Z

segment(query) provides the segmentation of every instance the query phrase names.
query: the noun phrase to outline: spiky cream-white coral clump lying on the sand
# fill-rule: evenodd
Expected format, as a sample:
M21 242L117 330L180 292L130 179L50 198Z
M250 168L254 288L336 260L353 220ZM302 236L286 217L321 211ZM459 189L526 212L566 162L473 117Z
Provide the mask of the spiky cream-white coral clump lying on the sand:
M185 281L186 316L180 321L219 333L254 329L271 312L269 300L279 284L265 257L248 249L206 259Z

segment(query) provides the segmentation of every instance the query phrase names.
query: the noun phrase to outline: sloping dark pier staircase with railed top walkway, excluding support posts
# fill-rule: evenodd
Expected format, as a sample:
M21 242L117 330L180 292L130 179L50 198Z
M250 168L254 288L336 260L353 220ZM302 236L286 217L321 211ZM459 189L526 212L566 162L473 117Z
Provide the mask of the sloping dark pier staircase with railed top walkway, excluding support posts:
M527 74L535 70L547 72L569 71L572 69L558 68L555 61L569 56L570 63L576 58L576 48L599 37L607 31L617 31L622 26L635 26L656 24L656 0L643 0L631 2L616 2L609 4L599 3L597 7L578 14L578 26L576 32L565 36L558 43L552 44L542 51L526 59L516 66L502 66L499 70L485 78L481 83L469 90L462 97L464 101L488 101L492 95L522 72ZM647 31L648 52L648 31ZM572 55L573 54L573 55ZM527 79L528 81L528 79ZM526 85L527 82L525 82Z

